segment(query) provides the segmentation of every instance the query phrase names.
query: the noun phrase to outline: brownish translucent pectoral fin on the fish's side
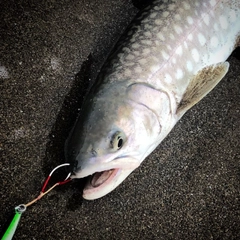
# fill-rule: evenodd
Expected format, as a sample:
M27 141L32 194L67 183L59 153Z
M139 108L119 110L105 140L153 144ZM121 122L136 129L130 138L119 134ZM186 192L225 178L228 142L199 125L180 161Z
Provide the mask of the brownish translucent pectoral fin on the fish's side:
M179 118L205 97L225 76L229 68L229 63L218 63L203 68L189 83L181 102L177 108Z

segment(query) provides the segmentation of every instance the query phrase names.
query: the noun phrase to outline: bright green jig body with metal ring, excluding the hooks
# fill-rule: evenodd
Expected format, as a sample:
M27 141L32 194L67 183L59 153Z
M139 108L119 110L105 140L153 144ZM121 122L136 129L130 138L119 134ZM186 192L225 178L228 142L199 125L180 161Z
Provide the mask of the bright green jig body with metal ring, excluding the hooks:
M4 233L1 240L11 240L12 239L12 237L16 231L17 225L20 221L21 215L23 212L25 212L25 210L26 210L26 206L23 204L21 204L15 208L15 215L13 217L13 220L11 221L9 227L7 228L7 231Z

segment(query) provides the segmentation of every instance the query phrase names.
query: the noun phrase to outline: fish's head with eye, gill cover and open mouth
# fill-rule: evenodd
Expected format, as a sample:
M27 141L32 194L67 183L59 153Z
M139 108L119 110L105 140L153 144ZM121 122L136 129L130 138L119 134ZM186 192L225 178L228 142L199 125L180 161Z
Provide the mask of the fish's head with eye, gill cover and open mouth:
M156 147L160 132L157 117L124 93L110 91L86 100L66 142L71 178L89 176L83 190L85 199L111 192Z

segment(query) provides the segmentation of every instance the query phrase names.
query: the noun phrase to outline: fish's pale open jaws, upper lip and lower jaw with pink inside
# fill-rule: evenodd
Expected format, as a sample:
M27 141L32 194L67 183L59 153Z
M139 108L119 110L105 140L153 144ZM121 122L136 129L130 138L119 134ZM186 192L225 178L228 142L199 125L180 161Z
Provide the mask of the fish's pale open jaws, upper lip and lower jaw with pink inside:
M122 157L100 166L94 164L88 165L86 169L76 169L71 178L88 177L83 190L83 198L94 200L114 190L140 163L141 161L135 158Z

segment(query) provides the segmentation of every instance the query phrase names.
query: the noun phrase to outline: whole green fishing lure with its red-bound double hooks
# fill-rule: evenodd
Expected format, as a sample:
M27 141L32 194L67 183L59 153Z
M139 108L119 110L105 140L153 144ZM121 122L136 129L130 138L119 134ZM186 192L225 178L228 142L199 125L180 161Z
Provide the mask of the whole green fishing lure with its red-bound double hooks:
M46 186L52 176L52 174L60 167L64 167L64 166L68 166L70 165L69 163L64 163L61 164L57 167L55 167L50 174L48 175L47 179L45 180L43 187L40 191L40 194L38 195L38 197L36 197L35 199L33 199L31 202L27 203L27 204L20 204L19 206L15 207L15 215L13 217L13 220L11 221L9 227L7 228L6 232L4 233L2 240L11 240L13 238L13 235L17 229L18 223L21 219L22 213L26 211L27 207L29 207L30 205L32 205L33 203L35 203L36 201L38 201L40 198L42 198L44 195L46 195L47 193L49 193L53 188L55 188L58 185L62 185L65 184L69 181L71 181L71 179L69 178L71 173L69 173L67 175L67 177L65 178L64 181L60 181L55 183L51 188L49 188L47 191L45 191Z

